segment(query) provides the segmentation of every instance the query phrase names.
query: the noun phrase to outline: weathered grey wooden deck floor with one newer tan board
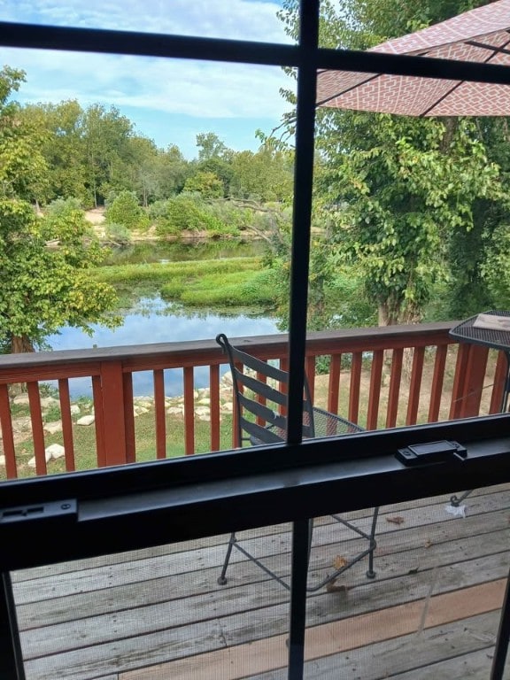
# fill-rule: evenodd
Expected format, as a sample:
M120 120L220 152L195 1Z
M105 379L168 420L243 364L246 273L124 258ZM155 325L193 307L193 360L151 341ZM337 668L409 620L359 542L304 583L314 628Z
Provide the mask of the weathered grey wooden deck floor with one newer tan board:
M308 598L305 677L488 678L510 564L510 486L475 492L466 518L447 504L384 506L375 580L362 561L335 591ZM351 516L367 527L367 513ZM282 573L288 529L251 532ZM311 578L359 544L343 531L317 522ZM27 680L283 680L288 593L240 553L220 587L225 544L213 537L13 574Z

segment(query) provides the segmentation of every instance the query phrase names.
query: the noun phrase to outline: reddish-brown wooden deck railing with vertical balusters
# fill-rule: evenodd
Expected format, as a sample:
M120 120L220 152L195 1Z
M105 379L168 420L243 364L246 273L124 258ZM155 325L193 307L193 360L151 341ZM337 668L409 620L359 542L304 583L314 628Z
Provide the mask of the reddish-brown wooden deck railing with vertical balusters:
M306 349L306 372L316 403L367 429L413 425L417 422L449 420L497 413L503 392L505 359L497 352L452 343L452 323L352 328L310 334ZM287 366L288 336L253 336L236 339L261 359L279 359ZM77 468L103 467L166 458L169 445L182 439L186 455L236 446L231 416L220 413L220 365L225 358L213 341L144 344L82 351L38 352L0 356L0 426L4 455L4 477L45 475ZM197 402L207 401L195 387L195 367L209 367L207 424L197 417ZM182 419L169 415L165 370L182 371ZM147 418L153 439L147 451L138 452L135 424L133 376L151 371L153 409ZM85 444L73 415L70 381L87 377L94 408L94 436ZM62 462L50 469L42 409L41 385L56 381L61 433L65 449ZM19 399L14 392L27 393L28 435L16 431ZM174 409L175 410L175 409ZM18 408L19 411L19 408ZM177 430L178 421L182 429ZM221 422L223 421L223 426ZM92 426L90 426L91 428ZM197 428L207 429L207 442L197 446ZM90 429L89 429L90 432ZM53 437L55 439L55 437ZM83 451L85 446L86 451ZM93 451L95 449L95 451ZM27 467L33 454L34 469ZM83 463L88 459L88 463Z

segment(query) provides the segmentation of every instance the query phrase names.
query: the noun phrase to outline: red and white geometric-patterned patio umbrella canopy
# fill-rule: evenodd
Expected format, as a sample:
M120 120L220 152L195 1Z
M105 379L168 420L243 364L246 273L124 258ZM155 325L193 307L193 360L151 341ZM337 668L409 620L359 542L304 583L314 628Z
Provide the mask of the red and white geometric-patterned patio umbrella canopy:
M510 65L510 0L464 12L368 51ZM503 116L510 114L510 86L321 71L317 104L408 116Z

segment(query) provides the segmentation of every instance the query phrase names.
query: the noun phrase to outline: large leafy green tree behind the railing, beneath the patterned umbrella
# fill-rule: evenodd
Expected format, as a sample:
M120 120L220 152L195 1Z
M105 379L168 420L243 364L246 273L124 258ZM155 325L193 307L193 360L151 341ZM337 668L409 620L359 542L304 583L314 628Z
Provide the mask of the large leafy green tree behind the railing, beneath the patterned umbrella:
M339 12L324 0L321 44L366 49L470 7L455 0L350 0ZM285 0L280 18L296 35L295 0ZM312 263L321 272L316 281L327 285L338 267L355 262L381 323L419 321L437 282L452 285L456 237L483 232L489 213L505 211L501 171L480 126L324 109L317 128L324 170L316 207L328 222L328 261ZM491 210L483 213L481 204Z

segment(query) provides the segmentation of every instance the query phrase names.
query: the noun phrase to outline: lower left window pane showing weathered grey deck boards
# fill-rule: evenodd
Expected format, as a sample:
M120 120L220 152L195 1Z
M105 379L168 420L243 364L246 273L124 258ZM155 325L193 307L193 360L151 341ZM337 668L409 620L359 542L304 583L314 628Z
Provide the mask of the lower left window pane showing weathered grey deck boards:
M239 538L288 577L289 536ZM220 585L227 546L216 536L13 573L27 680L234 678L285 664L288 591L236 550Z

